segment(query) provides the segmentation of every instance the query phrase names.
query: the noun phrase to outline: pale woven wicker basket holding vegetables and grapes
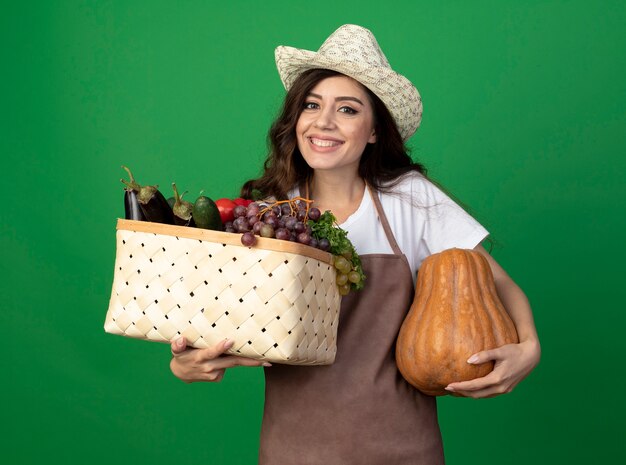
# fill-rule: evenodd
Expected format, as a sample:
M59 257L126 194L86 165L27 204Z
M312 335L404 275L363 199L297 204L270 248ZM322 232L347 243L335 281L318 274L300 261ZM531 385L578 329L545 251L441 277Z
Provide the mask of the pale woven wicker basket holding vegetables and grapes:
M292 365L327 365L337 351L341 296L332 255L294 242L118 220L104 329Z

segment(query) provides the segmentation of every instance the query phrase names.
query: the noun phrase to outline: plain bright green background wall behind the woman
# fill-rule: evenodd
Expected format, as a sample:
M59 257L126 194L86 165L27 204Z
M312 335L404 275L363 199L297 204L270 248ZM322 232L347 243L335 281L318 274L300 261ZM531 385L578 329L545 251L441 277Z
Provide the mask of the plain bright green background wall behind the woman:
M123 176L233 196L283 89L273 50L372 29L415 82L410 141L492 232L543 344L512 394L442 398L450 464L620 463L622 1L42 1L0 15L0 460L256 460L258 369L186 385L166 345L105 334Z

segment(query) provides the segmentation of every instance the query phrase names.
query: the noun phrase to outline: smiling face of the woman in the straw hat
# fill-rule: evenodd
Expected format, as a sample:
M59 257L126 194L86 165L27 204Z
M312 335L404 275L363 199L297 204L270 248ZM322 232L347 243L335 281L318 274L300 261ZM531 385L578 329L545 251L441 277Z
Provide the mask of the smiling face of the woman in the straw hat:
M357 172L366 145L376 142L374 112L365 89L347 76L317 83L304 102L296 136L312 169Z

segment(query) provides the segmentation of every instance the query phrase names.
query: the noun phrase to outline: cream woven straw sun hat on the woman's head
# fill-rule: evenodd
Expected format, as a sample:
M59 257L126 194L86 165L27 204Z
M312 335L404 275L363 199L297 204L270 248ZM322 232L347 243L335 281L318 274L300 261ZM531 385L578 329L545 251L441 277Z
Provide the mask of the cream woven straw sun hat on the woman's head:
M400 136L406 141L419 127L422 99L411 81L396 73L374 35L364 27L345 24L333 32L317 52L279 46L278 74L289 90L304 71L323 68L350 76L370 89L387 106Z

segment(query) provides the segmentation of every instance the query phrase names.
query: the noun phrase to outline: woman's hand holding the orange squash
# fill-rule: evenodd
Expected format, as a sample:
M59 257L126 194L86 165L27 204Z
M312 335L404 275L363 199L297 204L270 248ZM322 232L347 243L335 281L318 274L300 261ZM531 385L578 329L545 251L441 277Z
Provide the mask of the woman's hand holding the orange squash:
M452 395L474 399L495 397L511 392L539 363L539 343L524 341L507 344L497 349L478 352L468 363L478 365L493 360L493 371L482 378L450 383L446 390Z

